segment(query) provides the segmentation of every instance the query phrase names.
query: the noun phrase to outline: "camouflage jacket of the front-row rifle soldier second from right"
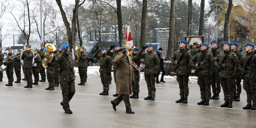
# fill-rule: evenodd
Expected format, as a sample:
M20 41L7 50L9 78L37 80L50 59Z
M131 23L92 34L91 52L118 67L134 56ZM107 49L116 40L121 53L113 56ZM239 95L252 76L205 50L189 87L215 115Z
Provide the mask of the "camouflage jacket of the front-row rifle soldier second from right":
M226 57L225 62L223 63L225 67L221 66L222 71L219 72L220 78L232 78L236 76L238 71L238 57L235 53L228 53L228 51L221 52L218 56L215 57L215 67L221 63L226 54L228 54L228 56Z

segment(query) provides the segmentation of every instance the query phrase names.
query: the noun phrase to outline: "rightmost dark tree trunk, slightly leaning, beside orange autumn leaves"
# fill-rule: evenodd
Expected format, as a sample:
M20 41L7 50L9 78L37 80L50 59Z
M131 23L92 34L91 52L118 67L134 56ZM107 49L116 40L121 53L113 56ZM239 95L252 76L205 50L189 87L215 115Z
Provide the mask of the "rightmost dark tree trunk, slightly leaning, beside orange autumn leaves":
M233 1L228 0L228 9L225 12L225 22L224 22L224 41L228 42L228 26L229 26L229 17L233 6Z

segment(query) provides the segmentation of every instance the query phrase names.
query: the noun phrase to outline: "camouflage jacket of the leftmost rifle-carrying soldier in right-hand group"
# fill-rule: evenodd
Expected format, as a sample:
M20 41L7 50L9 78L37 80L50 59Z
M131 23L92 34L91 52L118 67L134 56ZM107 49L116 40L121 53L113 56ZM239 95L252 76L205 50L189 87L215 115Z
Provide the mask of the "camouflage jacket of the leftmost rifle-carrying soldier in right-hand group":
M185 51L186 51L186 49L184 48L184 49L180 49L174 53L174 55L171 58L172 65L174 65L175 61L178 61L180 59L181 55ZM187 51L187 53L181 60L181 62L183 63L183 66L179 66L176 70L177 75L189 75L191 73L192 68L189 65L190 59L191 59L191 54L189 51Z

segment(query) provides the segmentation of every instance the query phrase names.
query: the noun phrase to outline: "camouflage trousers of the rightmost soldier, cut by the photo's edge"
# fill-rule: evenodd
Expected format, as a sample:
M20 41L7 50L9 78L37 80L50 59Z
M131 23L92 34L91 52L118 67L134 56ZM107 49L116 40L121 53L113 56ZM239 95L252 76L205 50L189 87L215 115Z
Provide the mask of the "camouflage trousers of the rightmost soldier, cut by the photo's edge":
M256 104L256 80L255 79L244 79L243 88L247 94L247 103Z

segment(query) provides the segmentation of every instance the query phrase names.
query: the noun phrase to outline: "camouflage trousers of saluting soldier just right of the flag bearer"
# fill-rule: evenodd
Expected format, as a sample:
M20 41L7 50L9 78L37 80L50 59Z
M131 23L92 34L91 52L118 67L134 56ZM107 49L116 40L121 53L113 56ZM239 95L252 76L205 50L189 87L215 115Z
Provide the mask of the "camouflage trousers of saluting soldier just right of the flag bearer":
M154 77L154 75L145 75L145 81L147 83L148 96L156 97L156 78Z

